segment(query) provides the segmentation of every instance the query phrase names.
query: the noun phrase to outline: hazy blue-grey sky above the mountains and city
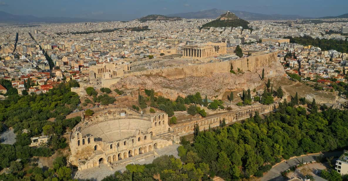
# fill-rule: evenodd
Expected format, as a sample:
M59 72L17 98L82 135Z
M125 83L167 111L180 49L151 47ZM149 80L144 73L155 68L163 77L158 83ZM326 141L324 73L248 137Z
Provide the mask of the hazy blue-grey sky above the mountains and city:
M213 8L323 17L346 14L347 7L348 0L0 0L0 11L16 15L119 21Z

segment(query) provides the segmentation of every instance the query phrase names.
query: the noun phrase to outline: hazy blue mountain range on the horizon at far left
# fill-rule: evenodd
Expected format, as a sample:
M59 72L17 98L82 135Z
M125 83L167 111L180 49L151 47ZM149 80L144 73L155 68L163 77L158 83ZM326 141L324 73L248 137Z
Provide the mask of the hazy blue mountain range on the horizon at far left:
M68 17L36 17L32 15L13 15L0 11L0 22L1 23L76 23L76 22L97 22L105 21L98 19L89 18L68 18Z

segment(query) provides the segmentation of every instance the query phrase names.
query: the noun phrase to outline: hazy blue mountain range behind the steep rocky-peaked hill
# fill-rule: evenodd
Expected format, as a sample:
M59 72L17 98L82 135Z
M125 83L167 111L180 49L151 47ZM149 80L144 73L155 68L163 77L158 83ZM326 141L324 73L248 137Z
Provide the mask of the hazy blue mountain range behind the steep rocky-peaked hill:
M197 12L190 13L177 13L169 14L167 16L179 16L186 19L215 19L223 13L226 13L227 10L221 9L209 9L202 10ZM282 19L312 19L311 17L304 17L299 15L280 15L280 14L261 14L261 13L251 13L247 11L238 11L238 10L229 10L234 13L236 16L246 20L282 20Z

